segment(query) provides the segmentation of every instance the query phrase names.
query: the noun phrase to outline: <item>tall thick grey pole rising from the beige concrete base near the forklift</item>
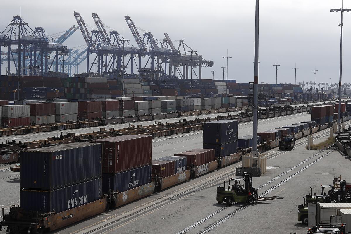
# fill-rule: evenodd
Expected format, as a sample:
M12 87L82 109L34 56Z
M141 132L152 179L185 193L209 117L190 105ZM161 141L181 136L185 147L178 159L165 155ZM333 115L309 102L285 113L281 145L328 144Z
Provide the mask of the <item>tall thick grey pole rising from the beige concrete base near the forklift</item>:
M255 11L255 61L254 61L254 83L253 83L253 131L252 131L252 156L257 158L257 168L261 167L261 156L257 151L257 125L258 125L258 0L256 0Z

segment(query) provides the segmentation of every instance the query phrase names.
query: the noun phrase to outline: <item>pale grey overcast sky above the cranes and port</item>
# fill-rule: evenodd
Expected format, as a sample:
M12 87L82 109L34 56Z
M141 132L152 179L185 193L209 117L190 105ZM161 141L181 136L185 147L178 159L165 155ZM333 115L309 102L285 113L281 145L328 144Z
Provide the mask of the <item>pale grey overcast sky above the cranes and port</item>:
M132 1L3 1L0 9L0 31L14 15L20 13L28 25L42 26L48 34L66 31L77 26L73 16L78 11L84 21L95 26L91 13L96 12L102 22L117 30L136 46L124 20L129 15L135 25L149 31L159 40L167 32L171 40L184 39L187 45L207 60L213 68L203 68L202 78L222 79L220 67L229 60L229 79L237 82L253 81L254 61L254 0L132 0ZM277 63L278 83L294 82L295 63L298 81L314 80L312 70L317 69L317 83L338 82L340 49L341 0L261 0L259 13L259 82L275 83ZM351 0L344 0L344 8L351 8ZM343 82L351 82L349 53L351 48L351 13L344 14L343 27ZM88 28L88 30L91 30ZM139 31L142 35L143 31ZM178 45L178 41L173 42ZM85 45L80 30L65 44L72 48ZM4 50L5 48L3 48ZM3 70L5 64L3 64ZM82 63L80 72L85 69Z

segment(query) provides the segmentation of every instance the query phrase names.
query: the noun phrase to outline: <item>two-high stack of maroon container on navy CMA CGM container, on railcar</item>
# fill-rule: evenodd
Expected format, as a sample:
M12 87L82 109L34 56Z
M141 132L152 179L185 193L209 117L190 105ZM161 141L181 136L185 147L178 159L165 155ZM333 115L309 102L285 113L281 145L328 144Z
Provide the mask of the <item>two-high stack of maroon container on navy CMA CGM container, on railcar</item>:
M152 136L123 135L94 142L102 143L103 193L121 193L151 182Z

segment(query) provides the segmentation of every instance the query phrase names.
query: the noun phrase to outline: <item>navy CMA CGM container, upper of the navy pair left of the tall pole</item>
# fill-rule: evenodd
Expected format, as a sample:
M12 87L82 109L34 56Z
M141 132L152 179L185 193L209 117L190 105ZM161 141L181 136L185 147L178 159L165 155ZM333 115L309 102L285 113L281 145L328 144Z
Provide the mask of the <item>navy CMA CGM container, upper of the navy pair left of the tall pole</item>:
M224 144L238 139L237 120L217 120L204 123L204 144Z

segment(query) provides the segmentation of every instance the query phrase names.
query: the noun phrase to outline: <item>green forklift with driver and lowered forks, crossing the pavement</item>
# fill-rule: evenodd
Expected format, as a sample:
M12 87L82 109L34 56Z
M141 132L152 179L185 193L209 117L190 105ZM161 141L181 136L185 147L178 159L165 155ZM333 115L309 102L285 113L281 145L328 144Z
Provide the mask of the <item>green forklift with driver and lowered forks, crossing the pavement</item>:
M224 181L224 187L219 186L217 188L217 202L223 203L225 201L227 206L230 206L233 202L246 202L250 205L255 201L283 199L283 197L279 196L259 197L257 189L252 187L252 174L244 172L243 177L243 179L230 178L227 189ZM231 180L234 181L234 185L232 186L230 185Z

